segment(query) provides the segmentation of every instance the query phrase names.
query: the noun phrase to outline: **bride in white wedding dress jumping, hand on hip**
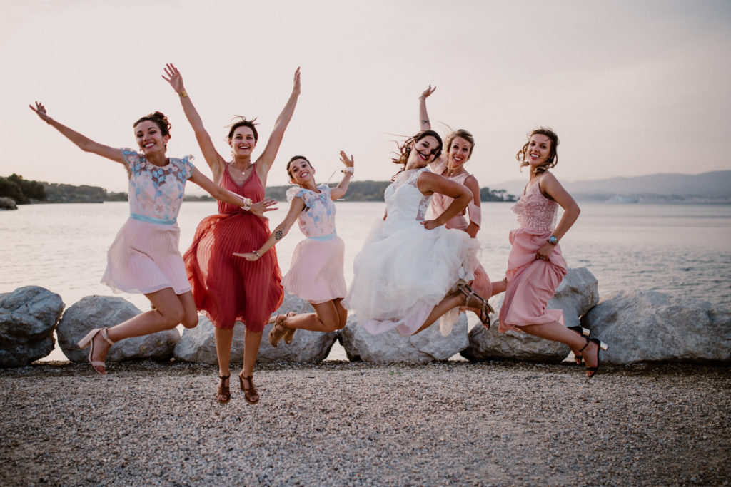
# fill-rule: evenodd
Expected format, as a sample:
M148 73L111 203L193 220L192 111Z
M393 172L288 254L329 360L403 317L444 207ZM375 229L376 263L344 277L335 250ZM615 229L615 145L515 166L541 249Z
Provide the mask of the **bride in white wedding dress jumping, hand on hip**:
M363 249L355 256L354 277L343 304L355 311L359 326L371 334L395 329L402 336L431 326L459 306L483 310L489 326L492 311L469 285L477 266L477 240L466 232L443 225L469 204L473 195L465 186L427 169L442 152L442 139L434 131L422 131L401 146L403 164L386 188L386 216L371 230ZM454 201L433 220L424 220L433 193ZM442 320L442 334L449 334L458 313Z

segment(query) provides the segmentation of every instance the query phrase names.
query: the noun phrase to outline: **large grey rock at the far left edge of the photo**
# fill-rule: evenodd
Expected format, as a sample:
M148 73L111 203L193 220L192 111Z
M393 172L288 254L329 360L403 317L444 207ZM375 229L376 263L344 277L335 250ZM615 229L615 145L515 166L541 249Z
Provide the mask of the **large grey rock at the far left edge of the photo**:
M28 285L0 294L0 367L23 367L51 353L61 296Z

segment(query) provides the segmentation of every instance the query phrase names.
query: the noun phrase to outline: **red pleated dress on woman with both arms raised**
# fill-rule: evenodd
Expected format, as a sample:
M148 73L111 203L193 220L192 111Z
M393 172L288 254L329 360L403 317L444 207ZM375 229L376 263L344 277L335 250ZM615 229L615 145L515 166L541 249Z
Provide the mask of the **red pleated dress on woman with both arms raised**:
M237 185L228 168L221 187L258 202L264 198L256 169ZM219 201L219 214L204 218L186 251L186 269L198 310L213 326L232 329L243 321L246 329L259 332L284 299L281 270L273 248L255 262L233 253L249 253L269 238L268 222L251 212Z

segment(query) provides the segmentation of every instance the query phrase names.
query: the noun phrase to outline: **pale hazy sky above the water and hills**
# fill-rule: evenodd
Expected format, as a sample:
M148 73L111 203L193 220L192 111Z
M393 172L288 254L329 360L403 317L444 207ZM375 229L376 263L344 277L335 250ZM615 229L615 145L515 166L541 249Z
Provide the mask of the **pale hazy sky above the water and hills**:
M168 155L191 153L210 176L160 77L167 62L224 156L234 115L257 117L261 153L301 66L269 185L287 184L295 154L325 181L341 149L355 156L356 180L389 179L394 141L417 132L417 97L429 84L433 128L474 134L467 169L480 186L526 177L515 153L539 125L561 138L555 173L567 182L731 169L728 0L0 4L3 176L126 191L118 164L42 123L34 100L115 147L135 147L132 123L160 110L173 124Z

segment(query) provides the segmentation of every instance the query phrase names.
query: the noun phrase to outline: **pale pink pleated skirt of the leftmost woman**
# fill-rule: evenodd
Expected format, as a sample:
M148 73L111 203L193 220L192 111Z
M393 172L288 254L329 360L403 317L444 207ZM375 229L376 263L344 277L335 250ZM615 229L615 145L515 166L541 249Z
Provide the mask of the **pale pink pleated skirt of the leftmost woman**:
M173 288L190 291L177 224L160 225L129 218L107 251L102 283L115 292L149 294Z

